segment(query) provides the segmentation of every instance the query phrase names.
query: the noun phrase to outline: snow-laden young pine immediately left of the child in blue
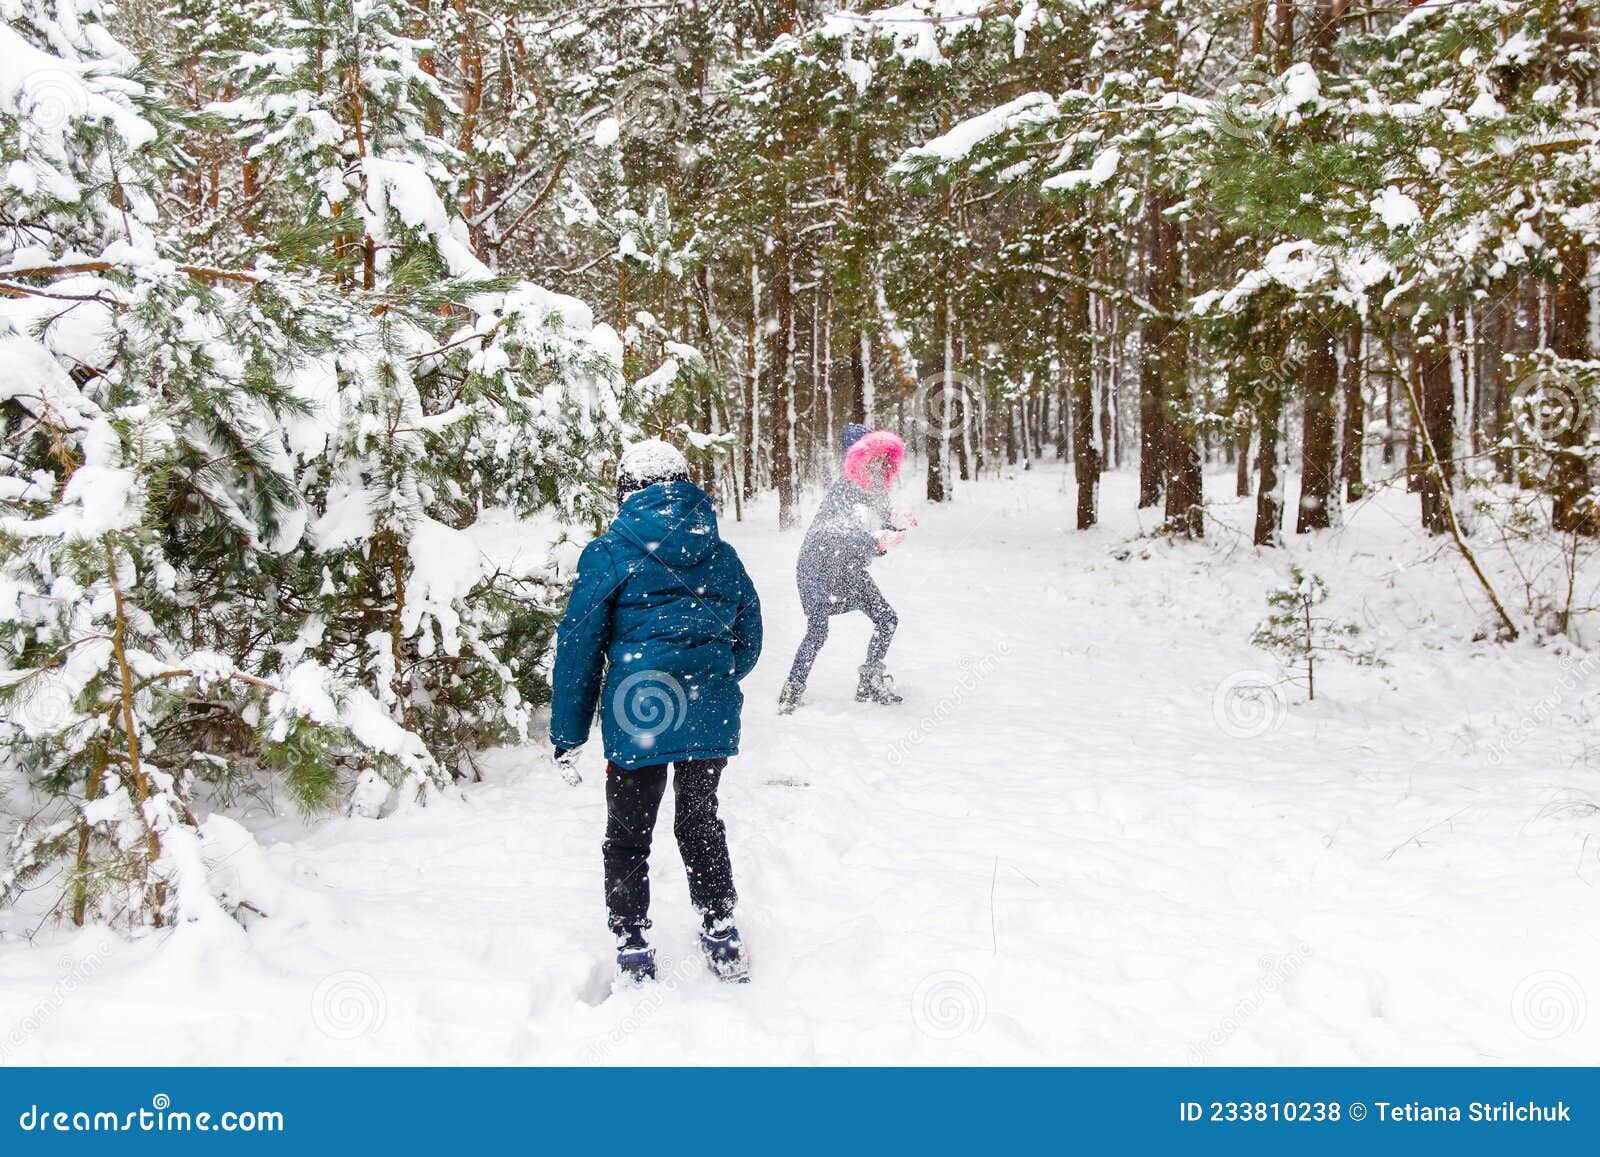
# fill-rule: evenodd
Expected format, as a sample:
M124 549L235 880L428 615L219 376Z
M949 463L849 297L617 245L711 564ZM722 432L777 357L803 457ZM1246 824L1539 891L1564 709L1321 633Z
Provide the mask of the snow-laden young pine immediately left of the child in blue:
M547 637L558 595L554 574L499 574L458 536L490 506L598 517L621 346L579 301L493 280L472 251L469 170L446 139L469 110L414 18L285 8L232 53L240 96L211 110L262 173L262 259L328 270L365 315L306 371L328 406L301 467L326 581L298 605L291 651L362 682L458 763L522 735L542 647L498 642ZM440 573L442 557L466 570Z

